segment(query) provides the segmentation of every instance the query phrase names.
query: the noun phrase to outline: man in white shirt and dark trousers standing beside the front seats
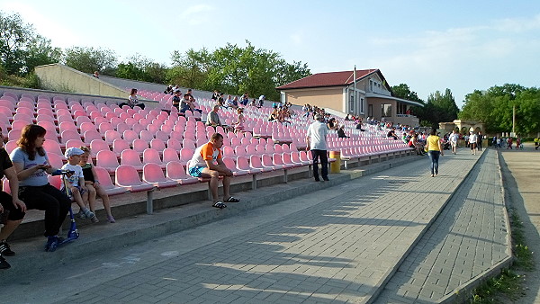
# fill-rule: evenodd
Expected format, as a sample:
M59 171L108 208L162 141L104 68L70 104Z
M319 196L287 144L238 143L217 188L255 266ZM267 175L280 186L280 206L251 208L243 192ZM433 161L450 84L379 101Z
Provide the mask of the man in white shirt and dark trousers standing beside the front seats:
M319 182L319 161L322 168L320 174L322 179L329 181L329 156L327 155L327 136L329 127L323 122L324 117L320 114L315 115L315 121L311 123L306 135L306 151L311 150L313 156L313 177L315 182Z

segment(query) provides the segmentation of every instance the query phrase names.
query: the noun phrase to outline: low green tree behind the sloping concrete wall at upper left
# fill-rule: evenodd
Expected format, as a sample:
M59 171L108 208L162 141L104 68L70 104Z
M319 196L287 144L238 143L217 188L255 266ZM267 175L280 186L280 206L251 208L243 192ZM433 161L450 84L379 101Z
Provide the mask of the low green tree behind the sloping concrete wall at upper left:
M62 63L84 73L114 76L117 58L111 49L94 49L92 47L73 47L65 49Z

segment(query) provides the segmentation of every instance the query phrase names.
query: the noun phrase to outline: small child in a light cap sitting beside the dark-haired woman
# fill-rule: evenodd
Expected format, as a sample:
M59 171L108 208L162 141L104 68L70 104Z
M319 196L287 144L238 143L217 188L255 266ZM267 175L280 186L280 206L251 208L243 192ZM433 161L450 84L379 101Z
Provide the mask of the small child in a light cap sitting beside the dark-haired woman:
M79 206L78 215L81 219L90 219L93 223L97 223L99 220L95 217L94 212L88 210L85 206L85 201L88 200L88 192L86 192L84 186L85 178L83 169L78 165L83 154L85 152L80 148L67 148L64 154L67 158L67 164L62 166L62 170L73 171L75 173L64 175L60 190L66 191L67 186L67 196Z

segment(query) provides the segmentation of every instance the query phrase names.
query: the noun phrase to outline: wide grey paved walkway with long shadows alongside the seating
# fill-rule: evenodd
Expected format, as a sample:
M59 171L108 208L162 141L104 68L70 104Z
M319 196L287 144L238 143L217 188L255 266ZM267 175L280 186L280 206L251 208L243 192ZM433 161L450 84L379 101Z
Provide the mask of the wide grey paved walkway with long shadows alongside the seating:
M479 157L466 153L443 156L440 174L435 178L429 177L428 159L424 158L383 174L368 175L319 192L314 190L293 200L248 210L234 218L138 246L81 256L84 260L65 262L61 268L46 273L4 281L2 293L14 302L81 303L345 303L374 301L379 293L393 299L400 296L396 301L407 300L398 293L405 291L409 292L409 300L420 299L434 288L424 285L432 279L421 284L421 280L416 281L416 297L411 290L397 287L401 286L400 272L394 273L400 264L414 271L414 264L421 262L415 259L410 263L406 256L420 257L419 252L434 252L438 248L439 255L425 255L425 260L433 261L431 266L419 263L434 273L441 268L438 263L443 261L444 246L462 244L461 248L474 239L468 249L477 255L462 256L452 247L452 256L456 256L449 259L454 260L453 269L464 271L468 264L457 264L462 258L478 265L480 262L474 262L474 257L486 255L486 250L480 252L473 245L485 249L490 238L501 235L481 229L480 237L464 236L476 232L472 227L482 227L481 223L486 228L500 228L497 219L493 219L500 215L497 212L485 209L484 213L474 213L483 214L482 218L471 216L482 205L499 203L497 195L486 195L497 192L497 185L488 187L492 178L498 176L490 171L490 162L475 167L470 176L477 174L473 187L465 183L465 190L454 195L462 197L462 203L467 197L466 201L476 204L459 207L458 213L444 210L446 203L451 206L455 201L451 200L453 193ZM488 153L485 159L491 158ZM469 197L471 192L482 196ZM433 240L443 234L428 229L440 212L447 222L436 226L449 236L443 247ZM450 220L452 214L457 220L455 225ZM468 218L464 220L462 216ZM490 253L493 260L500 257L498 252L496 249ZM481 268L473 267L473 272L460 274L465 280ZM383 291L387 282L396 284L398 292L389 289L394 291L392 295ZM448 280L444 289L450 291L453 284L459 283ZM441 291L440 295L444 294ZM429 296L438 297L434 292Z

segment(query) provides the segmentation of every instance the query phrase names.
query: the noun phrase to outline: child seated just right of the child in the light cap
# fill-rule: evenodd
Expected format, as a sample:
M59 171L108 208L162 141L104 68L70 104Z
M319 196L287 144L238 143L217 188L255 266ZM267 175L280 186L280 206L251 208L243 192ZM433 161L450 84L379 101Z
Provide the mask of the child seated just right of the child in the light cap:
M88 163L88 157L90 156L91 151L89 148L86 147L81 147L80 149L84 152L84 154L80 157L81 160L79 162L79 165L82 167L83 175L85 176L85 187L88 190L88 201L90 204L90 210L95 212L95 197L96 194L99 195L99 197L103 201L103 207L107 212L107 220L110 223L114 223L116 221L112 217L109 195L107 195L107 192L105 192L105 190L97 180L97 174L95 173L94 165L92 165L92 163Z

